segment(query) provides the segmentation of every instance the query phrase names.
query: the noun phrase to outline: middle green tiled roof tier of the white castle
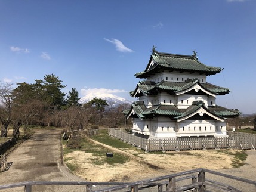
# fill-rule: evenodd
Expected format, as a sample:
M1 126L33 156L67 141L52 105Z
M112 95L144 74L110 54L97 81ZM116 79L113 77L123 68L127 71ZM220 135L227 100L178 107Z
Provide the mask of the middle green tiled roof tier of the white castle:
M168 82L162 80L158 83L153 82L138 82L134 91L130 92L132 97L139 97L141 94L150 95L154 94L157 90L169 92L169 94L175 94L176 92L186 91L186 89L191 88L195 84L198 84L206 91L209 91L215 95L225 95L230 91L227 88L220 86L212 85L211 83L200 83L198 80L188 81L188 82ZM141 91L141 94L137 94L138 89Z

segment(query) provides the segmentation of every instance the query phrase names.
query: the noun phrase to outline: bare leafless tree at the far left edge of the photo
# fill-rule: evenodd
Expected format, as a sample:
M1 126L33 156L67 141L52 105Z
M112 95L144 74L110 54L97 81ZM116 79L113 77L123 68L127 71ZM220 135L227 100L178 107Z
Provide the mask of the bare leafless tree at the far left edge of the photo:
M11 122L11 108L13 106L13 84L0 83L0 121L1 137L7 137L8 126Z

